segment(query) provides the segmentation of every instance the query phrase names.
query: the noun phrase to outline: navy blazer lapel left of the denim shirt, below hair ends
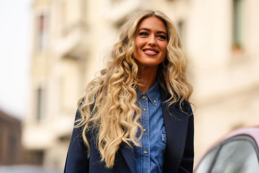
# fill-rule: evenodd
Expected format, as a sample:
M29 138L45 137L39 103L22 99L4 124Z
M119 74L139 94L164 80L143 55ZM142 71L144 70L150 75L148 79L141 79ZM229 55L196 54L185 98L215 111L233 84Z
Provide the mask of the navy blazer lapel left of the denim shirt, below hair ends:
M119 150L130 168L131 173L136 173L136 162L133 149L126 144L121 144Z

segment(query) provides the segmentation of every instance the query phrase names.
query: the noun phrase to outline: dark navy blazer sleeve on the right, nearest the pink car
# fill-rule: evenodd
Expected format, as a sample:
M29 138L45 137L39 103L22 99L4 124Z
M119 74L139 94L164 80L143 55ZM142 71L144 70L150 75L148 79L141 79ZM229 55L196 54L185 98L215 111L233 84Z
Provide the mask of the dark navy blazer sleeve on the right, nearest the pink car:
M193 172L193 158L194 158L194 119L190 103L187 104L187 112L189 113L189 122L187 129L187 136L185 142L185 150L183 159L179 168L179 172Z

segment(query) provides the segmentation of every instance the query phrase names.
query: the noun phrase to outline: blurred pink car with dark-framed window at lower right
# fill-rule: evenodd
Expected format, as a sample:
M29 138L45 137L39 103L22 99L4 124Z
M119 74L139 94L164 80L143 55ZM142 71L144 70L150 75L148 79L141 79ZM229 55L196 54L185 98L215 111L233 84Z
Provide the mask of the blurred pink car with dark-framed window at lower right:
M259 126L238 129L216 143L195 173L259 173Z

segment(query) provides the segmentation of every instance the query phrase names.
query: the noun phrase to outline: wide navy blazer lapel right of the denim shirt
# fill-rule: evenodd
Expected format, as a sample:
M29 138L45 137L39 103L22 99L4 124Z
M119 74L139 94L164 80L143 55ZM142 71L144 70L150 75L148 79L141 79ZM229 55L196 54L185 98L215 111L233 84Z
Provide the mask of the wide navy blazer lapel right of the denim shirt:
M179 102L170 107L164 103L169 95L160 89L161 105L166 131L164 172L178 172L183 157L189 116L179 109Z

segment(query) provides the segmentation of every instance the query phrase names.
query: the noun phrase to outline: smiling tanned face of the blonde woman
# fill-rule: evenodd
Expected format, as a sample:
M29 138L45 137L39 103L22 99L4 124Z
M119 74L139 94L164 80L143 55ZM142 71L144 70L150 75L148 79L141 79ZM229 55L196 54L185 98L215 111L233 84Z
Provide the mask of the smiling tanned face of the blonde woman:
M142 20L137 27L134 58L139 66L158 67L166 56L167 30L156 17Z

